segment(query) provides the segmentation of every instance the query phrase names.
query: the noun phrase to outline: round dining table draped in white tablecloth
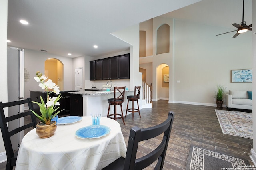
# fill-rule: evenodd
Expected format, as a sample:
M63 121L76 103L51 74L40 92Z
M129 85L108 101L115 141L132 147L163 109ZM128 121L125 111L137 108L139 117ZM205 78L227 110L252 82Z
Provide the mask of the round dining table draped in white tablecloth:
M24 136L16 170L100 170L120 156L125 158L126 144L117 121L101 117L100 126L110 131L87 137L84 131L93 127L90 116L68 123L59 123L60 119L52 137L39 138L36 128Z

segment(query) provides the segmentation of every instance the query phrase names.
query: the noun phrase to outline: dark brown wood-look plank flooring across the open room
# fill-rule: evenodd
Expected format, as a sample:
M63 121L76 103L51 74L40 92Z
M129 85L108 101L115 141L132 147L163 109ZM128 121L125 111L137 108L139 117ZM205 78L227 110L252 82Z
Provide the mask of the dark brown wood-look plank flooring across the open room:
M135 113L134 121L132 121L132 115L130 114L126 116L126 125L123 125L122 119L119 119L118 122L121 125L127 146L131 127L151 127L163 122L167 118L169 111L175 113L164 170L184 170L190 145L244 158L253 165L249 157L252 139L222 134L215 113L215 109L218 108L168 103L165 100L152 103L152 109L142 109L140 111L142 118L138 116L138 113ZM140 157L150 152L157 143L159 143L158 138L140 143L137 156ZM0 169L5 169L5 162L0 164ZM152 169L152 167L146 169Z

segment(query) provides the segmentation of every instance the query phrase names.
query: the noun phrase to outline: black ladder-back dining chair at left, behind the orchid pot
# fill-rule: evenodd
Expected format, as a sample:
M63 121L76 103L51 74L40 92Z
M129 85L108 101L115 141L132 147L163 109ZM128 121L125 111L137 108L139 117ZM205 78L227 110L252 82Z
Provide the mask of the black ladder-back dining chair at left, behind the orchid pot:
M11 143L10 137L13 136L14 134L17 134L21 132L22 130L25 130L27 128L33 127L36 128L36 116L34 113L32 113L30 110L22 113L10 113L8 112L8 115L12 115L9 117L5 117L4 115L4 108L8 107L20 107L20 105L28 104L28 107L33 110L32 106L32 101L31 98L25 99L25 100L20 100L20 101L12 101L12 102L7 102L7 103L2 103L0 102L0 127L1 127L1 132L2 132L2 137L4 140L4 147L6 151L6 157L7 157L7 163L6 163L6 170L12 170L13 166L16 165L16 160L17 160L17 155L18 155L18 150L13 150L13 146ZM27 123L26 125L22 125L20 127L17 127L13 130L8 130L7 123L10 121L14 121L17 119L20 119L22 117L29 116L31 118L31 121ZM25 124L25 123L24 123Z

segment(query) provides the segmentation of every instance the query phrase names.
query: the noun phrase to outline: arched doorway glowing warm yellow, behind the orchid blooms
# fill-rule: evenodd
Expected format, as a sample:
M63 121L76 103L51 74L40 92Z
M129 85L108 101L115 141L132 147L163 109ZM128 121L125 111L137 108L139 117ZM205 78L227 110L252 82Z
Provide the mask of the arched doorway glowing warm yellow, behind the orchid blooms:
M63 63L55 58L48 58L44 61L44 75L56 83L63 90Z

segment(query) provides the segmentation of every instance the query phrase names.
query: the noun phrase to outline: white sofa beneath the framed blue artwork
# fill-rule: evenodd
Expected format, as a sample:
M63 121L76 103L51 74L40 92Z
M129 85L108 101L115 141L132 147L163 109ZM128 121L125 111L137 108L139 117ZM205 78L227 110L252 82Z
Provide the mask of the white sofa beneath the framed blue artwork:
M250 98L252 98L250 96ZM252 110L252 99L249 99L248 91L230 90L226 94L226 106L228 108Z

